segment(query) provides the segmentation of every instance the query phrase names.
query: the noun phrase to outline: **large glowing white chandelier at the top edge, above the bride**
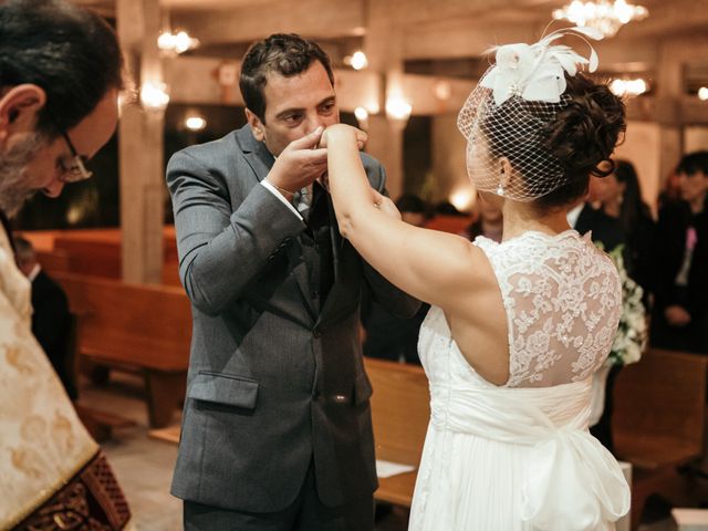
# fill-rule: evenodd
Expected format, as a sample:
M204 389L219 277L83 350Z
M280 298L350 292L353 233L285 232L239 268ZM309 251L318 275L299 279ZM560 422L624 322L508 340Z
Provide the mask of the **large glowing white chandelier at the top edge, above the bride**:
M562 9L553 11L554 19L565 19L577 25L595 28L602 31L604 37L613 37L623 24L645 19L648 14L649 11L645 7L633 6L625 0L573 0Z

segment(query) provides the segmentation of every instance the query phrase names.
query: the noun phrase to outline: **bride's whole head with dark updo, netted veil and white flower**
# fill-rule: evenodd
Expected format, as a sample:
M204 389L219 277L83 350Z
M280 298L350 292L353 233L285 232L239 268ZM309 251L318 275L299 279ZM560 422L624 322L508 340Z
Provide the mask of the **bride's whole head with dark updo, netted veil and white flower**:
M534 44L496 48L496 64L482 75L460 110L467 138L467 170L478 190L540 208L562 207L587 191L590 176L607 176L625 131L625 108L589 59L562 37L597 39L594 30L558 30ZM507 160L510 168L506 164ZM507 169L504 169L507 168Z

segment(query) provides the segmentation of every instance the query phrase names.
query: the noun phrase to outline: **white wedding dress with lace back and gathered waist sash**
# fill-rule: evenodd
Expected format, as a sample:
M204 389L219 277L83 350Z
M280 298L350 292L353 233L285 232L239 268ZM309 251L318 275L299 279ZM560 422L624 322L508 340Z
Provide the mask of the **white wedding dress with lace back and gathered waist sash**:
M510 377L479 376L430 309L418 348L431 413L409 530L614 529L629 488L587 418L620 317L616 269L573 230L475 244L501 290Z

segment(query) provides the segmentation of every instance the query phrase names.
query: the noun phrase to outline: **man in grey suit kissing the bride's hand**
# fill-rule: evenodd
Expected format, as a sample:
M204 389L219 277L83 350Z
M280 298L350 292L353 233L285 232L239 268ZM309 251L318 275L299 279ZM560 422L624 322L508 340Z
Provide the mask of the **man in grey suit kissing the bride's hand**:
M363 290L418 302L341 239L317 183L339 122L330 60L271 35L243 58L248 125L167 168L194 327L173 493L186 530L367 530L376 489ZM362 155L371 184L385 174Z

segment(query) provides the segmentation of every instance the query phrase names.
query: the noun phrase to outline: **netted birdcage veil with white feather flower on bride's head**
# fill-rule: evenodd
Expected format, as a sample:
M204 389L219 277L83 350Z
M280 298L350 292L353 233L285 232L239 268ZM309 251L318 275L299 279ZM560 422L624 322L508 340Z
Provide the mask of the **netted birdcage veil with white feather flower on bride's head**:
M565 75L574 76L584 65L594 72L597 55L592 45L585 59L570 46L553 44L566 34L601 37L589 28L569 28L535 44L493 49L496 64L482 75L457 121L468 140L467 173L478 190L531 201L568 183L563 166L544 146L546 127L571 101L564 94ZM500 157L522 177L502 183Z

